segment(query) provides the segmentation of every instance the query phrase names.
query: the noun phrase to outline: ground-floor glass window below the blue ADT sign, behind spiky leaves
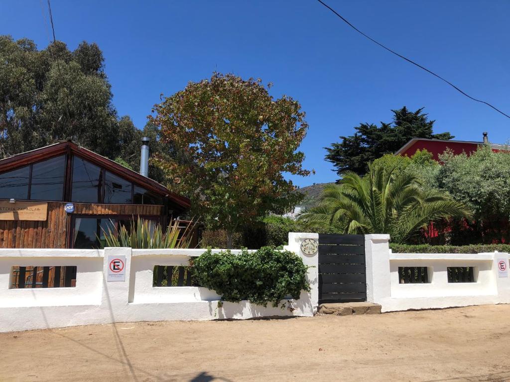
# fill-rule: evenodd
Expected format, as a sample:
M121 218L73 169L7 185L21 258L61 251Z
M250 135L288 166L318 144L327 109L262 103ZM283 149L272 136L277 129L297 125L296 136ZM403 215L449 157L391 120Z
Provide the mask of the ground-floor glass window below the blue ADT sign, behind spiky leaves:
M117 231L114 219L91 219L75 217L72 248L103 249L105 248L105 230Z

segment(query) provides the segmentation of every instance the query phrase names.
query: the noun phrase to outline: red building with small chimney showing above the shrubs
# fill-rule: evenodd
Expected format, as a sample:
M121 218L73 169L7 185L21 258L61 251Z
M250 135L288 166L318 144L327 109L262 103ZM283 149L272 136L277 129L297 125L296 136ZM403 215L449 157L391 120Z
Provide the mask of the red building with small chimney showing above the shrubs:
M439 155L444 153L446 149L450 149L454 154L462 154L465 152L470 155L478 149L478 146L489 144L487 133L483 133L482 142L474 141L442 141L438 139L413 138L403 145L395 155L413 156L418 150L427 150L432 153L435 160L439 160ZM490 144L493 151L505 150L503 145ZM507 149L506 149L507 150Z

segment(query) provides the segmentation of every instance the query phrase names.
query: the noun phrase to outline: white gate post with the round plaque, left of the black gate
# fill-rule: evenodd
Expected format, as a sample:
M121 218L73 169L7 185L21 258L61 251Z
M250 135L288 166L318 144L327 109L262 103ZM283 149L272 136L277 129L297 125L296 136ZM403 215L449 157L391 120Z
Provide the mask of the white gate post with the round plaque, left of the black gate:
M314 254L304 254L301 251L301 242L305 239L312 239L319 243L319 234L310 232L289 232L289 245L284 249L294 252L302 260L304 265L309 266L307 278L310 282L310 303L312 304L313 314L317 313L319 307L319 251ZM301 292L302 293L302 292ZM302 298L302 297L301 297Z

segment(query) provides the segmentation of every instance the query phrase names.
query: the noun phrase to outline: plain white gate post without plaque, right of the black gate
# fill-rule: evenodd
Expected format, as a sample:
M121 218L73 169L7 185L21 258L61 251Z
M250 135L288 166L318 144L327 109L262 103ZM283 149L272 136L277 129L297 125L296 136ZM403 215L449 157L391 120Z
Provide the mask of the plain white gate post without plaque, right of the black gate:
M381 304L391 297L390 235L365 235L365 261L367 267L367 302Z

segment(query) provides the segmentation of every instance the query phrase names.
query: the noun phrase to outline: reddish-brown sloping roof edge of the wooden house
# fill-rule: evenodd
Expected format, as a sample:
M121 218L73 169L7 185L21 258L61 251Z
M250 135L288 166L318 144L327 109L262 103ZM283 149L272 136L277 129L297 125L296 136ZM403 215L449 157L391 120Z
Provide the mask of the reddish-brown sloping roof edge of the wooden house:
M72 141L55 143L53 145L41 147L39 149L23 152L5 159L1 159L0 173L66 153L80 156L97 166L105 167L108 169L108 171L114 173L115 175L140 185L158 195L166 196L174 203L184 208L189 208L191 206L190 200L188 198L179 194L172 193L167 187L158 183L157 181L140 175L136 171L119 165L119 163L115 162L114 160L108 159L105 156L90 151L85 147L81 147Z

